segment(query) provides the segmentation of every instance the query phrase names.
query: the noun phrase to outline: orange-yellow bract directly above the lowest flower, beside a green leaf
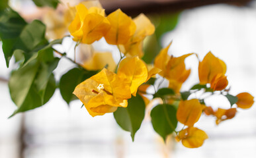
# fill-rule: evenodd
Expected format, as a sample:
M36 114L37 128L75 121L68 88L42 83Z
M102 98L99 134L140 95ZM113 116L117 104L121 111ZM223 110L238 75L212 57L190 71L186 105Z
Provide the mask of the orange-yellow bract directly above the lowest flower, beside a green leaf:
M198 99L181 101L177 110L177 120L187 126L193 126L201 114L202 106Z

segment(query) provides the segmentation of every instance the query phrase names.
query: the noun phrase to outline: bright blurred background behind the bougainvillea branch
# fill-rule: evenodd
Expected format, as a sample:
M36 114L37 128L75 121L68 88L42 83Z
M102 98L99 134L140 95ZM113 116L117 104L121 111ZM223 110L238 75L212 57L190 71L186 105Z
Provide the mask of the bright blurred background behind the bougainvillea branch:
M63 1L58 7L58 13L62 14L67 2L72 5L79 1ZM101 3L106 13L121 8L130 16L145 13L151 18L156 26L156 34L145 43L144 59L148 63L153 59L151 55L158 53L171 40L173 44L169 54L175 57L197 53L202 60L208 51L212 51L228 66L231 93L236 95L249 92L256 96L256 1L102 0ZM50 12L48 8L38 9L30 0L11 0L10 5L28 21L38 18L51 24L45 18ZM54 22L58 22L58 18ZM101 42L104 41L94 43L95 47L101 47ZM71 39L67 38L58 47L73 57L73 52L69 51L73 45ZM107 49L114 54L114 48ZM196 57L186 59L186 64L187 68L191 68L191 76L182 90L188 90L198 83ZM55 70L57 80L72 67L69 61L62 59ZM256 155L255 105L249 110L239 109L234 119L226 120L218 126L214 118L202 115L195 126L204 130L209 138L197 149L183 147L171 137L166 145L163 144L161 138L153 132L149 119L142 122L132 142L130 133L118 127L112 113L92 118L84 107L81 108L80 101L73 101L68 107L59 90L56 90L46 105L7 119L16 109L8 89L11 68L6 68L1 52L1 158L250 158ZM211 97L206 100L206 105L223 108L230 106L228 100L222 97Z

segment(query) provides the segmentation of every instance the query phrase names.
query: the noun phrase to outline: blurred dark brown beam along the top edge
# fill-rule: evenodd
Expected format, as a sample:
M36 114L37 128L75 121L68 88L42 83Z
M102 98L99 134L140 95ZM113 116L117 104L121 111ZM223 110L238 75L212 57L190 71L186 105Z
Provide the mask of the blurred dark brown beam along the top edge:
M140 13L172 13L184 9L191 9L204 5L217 3L228 3L232 5L247 5L252 0L120 0L107 1L100 0L107 14L120 8L130 16L137 16Z

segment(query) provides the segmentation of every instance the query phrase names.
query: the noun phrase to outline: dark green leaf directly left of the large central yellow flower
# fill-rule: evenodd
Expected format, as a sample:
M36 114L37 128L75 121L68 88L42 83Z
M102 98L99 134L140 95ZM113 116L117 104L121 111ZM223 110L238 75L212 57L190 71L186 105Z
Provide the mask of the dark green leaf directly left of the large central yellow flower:
M65 73L62 78L60 78L60 93L62 94L62 98L69 104L70 101L77 99L75 95L73 95L73 91L75 87L95 75L97 71L85 71L81 68L73 68Z

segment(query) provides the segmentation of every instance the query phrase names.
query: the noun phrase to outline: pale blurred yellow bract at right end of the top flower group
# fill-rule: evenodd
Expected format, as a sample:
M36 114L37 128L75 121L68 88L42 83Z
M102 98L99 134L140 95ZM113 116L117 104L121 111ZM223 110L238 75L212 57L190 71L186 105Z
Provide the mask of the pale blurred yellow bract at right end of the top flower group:
M133 21L136 24L136 31L129 39L128 43L124 44L125 50L122 52L125 55L138 55L141 58L144 55L142 50L143 39L155 32L155 26L153 26L148 17L144 14L138 15Z

